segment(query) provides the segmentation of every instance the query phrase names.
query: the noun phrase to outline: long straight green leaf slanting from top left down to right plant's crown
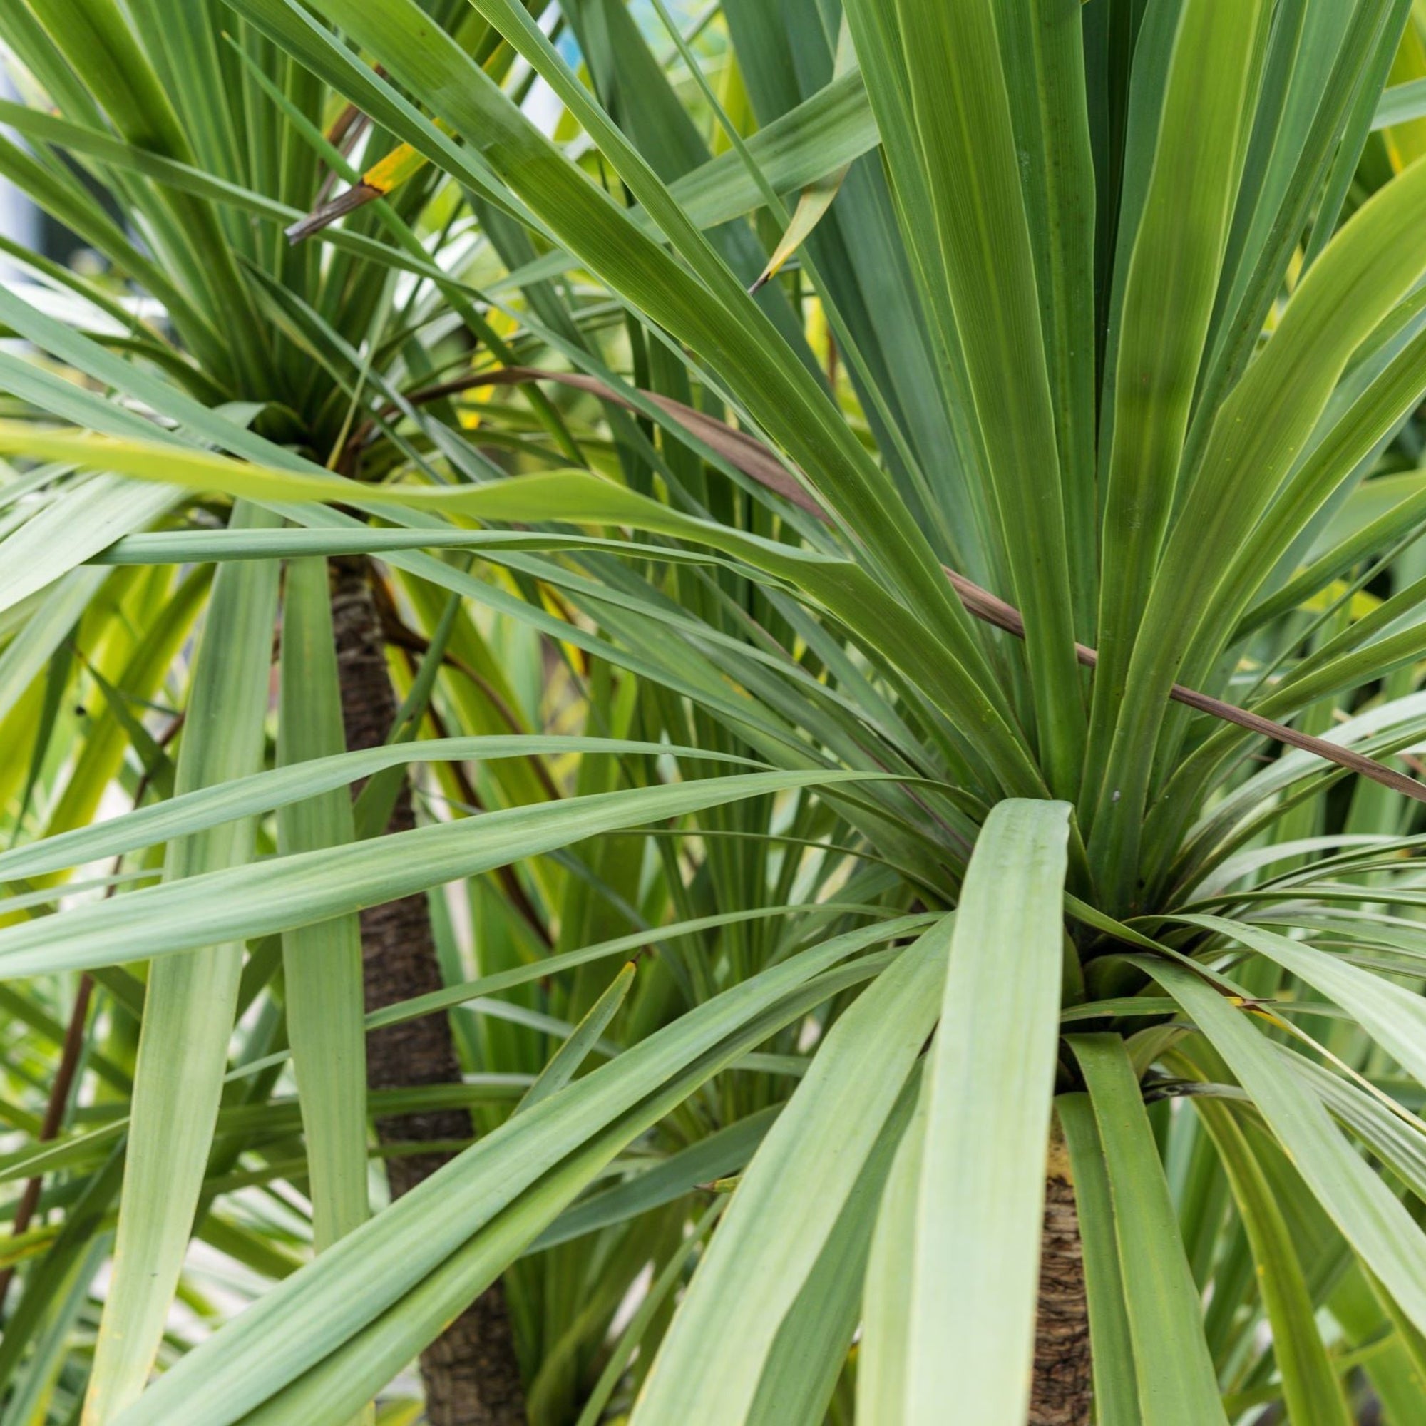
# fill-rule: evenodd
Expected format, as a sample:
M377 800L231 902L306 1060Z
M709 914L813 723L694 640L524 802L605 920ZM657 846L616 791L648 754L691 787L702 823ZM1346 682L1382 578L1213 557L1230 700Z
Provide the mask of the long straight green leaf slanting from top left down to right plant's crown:
M241 0L241 9L261 11L264 19L274 10L287 13L281 0ZM856 529L878 573L915 600L924 629L945 645L954 662L970 670L970 682L985 703L978 717L991 729L988 742L994 743L1001 780L1017 791L1040 791L1040 779L1025 764L1017 740L1000 733L1004 702L968 616L948 593L944 573L915 522L898 502L886 498L887 478L871 463L817 379L801 362L786 359L786 344L770 321L526 10L511 0L478 0L476 6L569 106L689 270L646 240L602 188L559 157L453 41L422 24L411 0L379 4L324 0L321 9L368 46L394 76L428 88L435 76L443 76L435 86L448 101L441 117L475 145L555 241L578 254L647 318L687 342L797 468L809 476L816 473L826 503ZM272 23L287 20L274 14ZM425 130L436 133L429 124ZM435 145L431 133L424 141ZM446 161L448 148L461 153L442 138L439 161ZM1072 647L1068 657L1072 665ZM1074 677L1078 680L1078 673ZM1078 683L1075 687L1078 696Z

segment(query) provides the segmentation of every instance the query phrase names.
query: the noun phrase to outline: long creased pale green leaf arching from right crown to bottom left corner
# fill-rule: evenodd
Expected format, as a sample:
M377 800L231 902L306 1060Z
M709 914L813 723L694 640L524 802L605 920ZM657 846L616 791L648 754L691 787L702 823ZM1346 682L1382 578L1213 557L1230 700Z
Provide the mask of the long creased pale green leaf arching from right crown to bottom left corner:
M774 1027L804 1014L809 997L817 1004L834 992L814 977L867 945L904 934L908 924L924 927L915 918L891 923L791 957L509 1119L185 1356L125 1413L123 1426L165 1420L175 1403L193 1416L211 1417L214 1426L238 1420L348 1339L359 1350L356 1333L368 1323L378 1330L389 1322L395 1342L388 1350L401 1353L395 1365L409 1360L414 1348L449 1319L446 1303L469 1302L482 1278L489 1281L518 1256L625 1144ZM546 1178L540 1192L526 1194L562 1162L569 1169L563 1181ZM506 1224L498 1215L512 1205ZM488 1224L499 1225L501 1233L508 1228L509 1238L498 1233L488 1243L478 1236ZM441 1272L424 1296L419 1285L435 1269ZM382 1319L394 1303L399 1303L396 1316ZM402 1335L412 1316L431 1323L429 1335L416 1325L415 1343ZM344 1379L341 1370L351 1373L355 1360L334 1363L339 1369L329 1378L334 1389ZM371 1369L369 1353L366 1360L364 1370ZM374 1365L382 1369L379 1360Z

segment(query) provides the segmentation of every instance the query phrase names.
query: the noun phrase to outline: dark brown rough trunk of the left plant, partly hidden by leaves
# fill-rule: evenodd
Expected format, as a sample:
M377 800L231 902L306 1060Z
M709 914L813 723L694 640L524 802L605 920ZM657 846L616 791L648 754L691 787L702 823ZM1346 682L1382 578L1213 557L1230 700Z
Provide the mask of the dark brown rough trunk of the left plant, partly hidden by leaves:
M381 616L364 559L332 562L332 626L341 679L347 747L375 747L386 740L396 699L386 669ZM404 784L388 831L415 826L411 787ZM362 978L366 1010L381 1010L441 988L441 967L425 896L372 907L361 914ZM366 1037L366 1082L372 1089L422 1084L459 1084L461 1067L446 1015L424 1015ZM404 1114L376 1121L384 1145L408 1148L435 1141L469 1139L465 1109ZM391 1196L399 1198L434 1174L449 1151L404 1152L386 1159ZM431 1426L519 1426L523 1390L515 1340L496 1281L472 1302L421 1356Z

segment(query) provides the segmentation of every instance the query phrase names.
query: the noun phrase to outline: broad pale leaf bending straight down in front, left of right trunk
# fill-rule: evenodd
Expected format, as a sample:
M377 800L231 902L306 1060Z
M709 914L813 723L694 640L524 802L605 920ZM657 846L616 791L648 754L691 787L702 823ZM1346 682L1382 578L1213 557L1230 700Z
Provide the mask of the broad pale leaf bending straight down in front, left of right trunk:
M904 1353L878 1372L904 1396L877 1420L930 1426L957 1400L1014 1426L1028 1407L1068 833L1067 803L1005 801L971 856L923 1091L908 1330L878 1348Z

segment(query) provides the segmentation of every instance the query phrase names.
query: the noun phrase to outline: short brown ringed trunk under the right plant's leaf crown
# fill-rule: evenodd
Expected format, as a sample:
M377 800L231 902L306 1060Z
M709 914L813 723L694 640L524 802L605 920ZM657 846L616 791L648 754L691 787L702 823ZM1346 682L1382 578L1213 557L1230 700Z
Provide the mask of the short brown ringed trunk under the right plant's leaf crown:
M1028 1426L1089 1426L1092 1372L1079 1216L1068 1178L1045 1181L1040 1239L1040 1316Z

